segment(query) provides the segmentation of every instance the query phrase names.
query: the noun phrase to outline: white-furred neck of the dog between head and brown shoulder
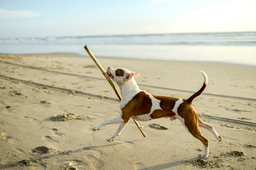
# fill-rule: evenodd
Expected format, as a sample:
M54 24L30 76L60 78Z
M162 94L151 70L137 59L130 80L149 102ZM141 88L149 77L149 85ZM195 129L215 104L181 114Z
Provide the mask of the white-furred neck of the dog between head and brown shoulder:
M140 88L137 85L134 78L132 78L129 81L124 81L122 84L118 84L119 89L121 90L121 96L122 98L125 98L126 96L135 95L140 92Z

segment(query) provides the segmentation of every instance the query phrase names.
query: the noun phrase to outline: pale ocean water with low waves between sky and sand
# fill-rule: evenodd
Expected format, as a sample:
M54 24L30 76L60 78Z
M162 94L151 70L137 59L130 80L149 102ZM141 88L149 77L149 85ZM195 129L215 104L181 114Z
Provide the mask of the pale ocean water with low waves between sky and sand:
M256 66L256 32L0 38L0 53L76 53Z

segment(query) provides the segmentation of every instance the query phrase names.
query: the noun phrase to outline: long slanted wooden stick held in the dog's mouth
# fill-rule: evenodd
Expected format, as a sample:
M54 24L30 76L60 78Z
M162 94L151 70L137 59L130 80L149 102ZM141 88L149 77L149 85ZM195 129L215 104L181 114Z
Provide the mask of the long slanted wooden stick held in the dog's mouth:
M86 50L86 52L90 55L90 57L92 58L92 60L94 61L94 63L99 67L100 71L102 72L102 74L105 76L105 78L108 80L110 86L113 88L113 90L116 93L116 96L118 97L118 99L121 101L121 96L119 95L115 85L113 84L113 82L110 80L110 78L108 77L107 72L103 69L103 67L101 66L101 64L99 63L99 61L96 59L96 57L92 54L91 50L89 49L89 47L87 45L84 46L84 49ZM132 119L133 120L133 119ZM138 129L140 130L140 132L142 133L143 137L146 137L146 134L143 132L143 130L141 129L141 126L138 124L137 121L133 120L134 123L137 125Z

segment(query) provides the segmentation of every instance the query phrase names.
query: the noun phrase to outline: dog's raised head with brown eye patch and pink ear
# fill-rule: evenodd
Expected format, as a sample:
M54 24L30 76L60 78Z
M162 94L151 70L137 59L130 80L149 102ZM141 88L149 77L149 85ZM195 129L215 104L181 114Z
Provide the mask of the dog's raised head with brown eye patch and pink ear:
M111 67L108 67L107 74L108 77L114 80L117 84L123 84L126 81L140 76L140 72L134 72L124 68L114 69Z

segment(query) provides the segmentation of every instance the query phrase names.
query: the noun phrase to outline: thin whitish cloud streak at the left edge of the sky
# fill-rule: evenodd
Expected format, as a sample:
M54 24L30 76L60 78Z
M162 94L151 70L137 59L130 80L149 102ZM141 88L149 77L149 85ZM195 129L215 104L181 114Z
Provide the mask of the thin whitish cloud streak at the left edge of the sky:
M7 19L7 18L26 18L26 17L33 17L38 16L39 13L33 11L8 11L0 9L0 19Z

